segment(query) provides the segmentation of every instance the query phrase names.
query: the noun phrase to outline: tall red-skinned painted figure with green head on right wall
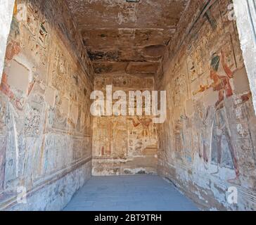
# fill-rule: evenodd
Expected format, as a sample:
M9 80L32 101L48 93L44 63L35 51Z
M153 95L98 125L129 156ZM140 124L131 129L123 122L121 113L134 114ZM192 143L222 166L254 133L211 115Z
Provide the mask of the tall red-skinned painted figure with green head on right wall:
M228 50L223 48L224 50ZM220 56L217 53L212 55L210 63L210 78L213 83L210 85L213 91L218 91L219 99L215 103L216 113L213 124L212 134L212 162L217 162L219 165L231 167L235 169L236 180L239 177L238 159L233 147L233 141L231 140L231 134L229 131L229 120L226 115L224 107L224 99L233 96L233 89L231 86L231 79L233 78L233 72L231 67L234 66L232 61L233 57L231 51L221 50ZM226 58L228 60L226 60ZM222 67L222 71L220 71ZM222 73L224 71L224 73ZM216 146L215 146L216 145ZM219 172L219 169L216 173Z

